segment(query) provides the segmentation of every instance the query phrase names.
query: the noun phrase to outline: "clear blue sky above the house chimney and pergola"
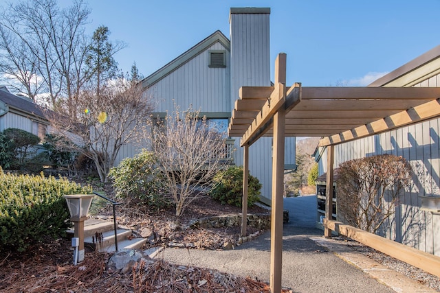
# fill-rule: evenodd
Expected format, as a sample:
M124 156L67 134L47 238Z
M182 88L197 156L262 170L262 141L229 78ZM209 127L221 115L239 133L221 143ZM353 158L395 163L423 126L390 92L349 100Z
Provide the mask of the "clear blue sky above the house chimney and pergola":
M115 59L148 76L216 30L229 37L231 7L269 7L272 71L287 54L287 85L364 86L440 45L440 0L89 0L90 32L107 25L128 47ZM273 75L273 73L272 73Z

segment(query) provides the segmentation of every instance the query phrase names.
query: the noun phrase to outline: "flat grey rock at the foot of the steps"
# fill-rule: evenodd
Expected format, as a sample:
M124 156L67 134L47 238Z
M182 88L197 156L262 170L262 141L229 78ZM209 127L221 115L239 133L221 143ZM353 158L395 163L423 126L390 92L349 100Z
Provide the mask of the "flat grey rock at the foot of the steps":
M109 269L109 272L119 270L120 272L124 271L123 273L126 273L130 272L134 264L140 261L144 261L146 265L150 265L154 262L153 259L142 250L120 250L110 257L109 262L107 263L107 268Z

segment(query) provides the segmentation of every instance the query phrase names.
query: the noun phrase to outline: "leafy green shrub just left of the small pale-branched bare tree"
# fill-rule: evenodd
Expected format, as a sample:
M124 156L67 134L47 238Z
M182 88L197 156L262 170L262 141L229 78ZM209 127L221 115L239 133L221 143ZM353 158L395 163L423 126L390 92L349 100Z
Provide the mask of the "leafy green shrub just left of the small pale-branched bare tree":
M142 150L133 158L121 161L118 167L110 169L116 197L129 200L133 204L149 207L163 207L167 204L159 195L159 172L155 169L156 159L152 152Z

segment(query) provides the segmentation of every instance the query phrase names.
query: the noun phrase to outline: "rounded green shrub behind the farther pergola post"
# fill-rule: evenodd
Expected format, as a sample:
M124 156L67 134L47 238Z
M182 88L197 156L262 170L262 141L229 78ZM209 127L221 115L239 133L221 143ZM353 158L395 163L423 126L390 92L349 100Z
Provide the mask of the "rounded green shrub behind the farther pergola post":
M261 194L261 183L258 178L249 174L248 185L248 207L252 207L259 200ZM243 167L230 167L214 176L216 183L210 191L214 200L222 204L232 204L236 207L242 206L243 196Z

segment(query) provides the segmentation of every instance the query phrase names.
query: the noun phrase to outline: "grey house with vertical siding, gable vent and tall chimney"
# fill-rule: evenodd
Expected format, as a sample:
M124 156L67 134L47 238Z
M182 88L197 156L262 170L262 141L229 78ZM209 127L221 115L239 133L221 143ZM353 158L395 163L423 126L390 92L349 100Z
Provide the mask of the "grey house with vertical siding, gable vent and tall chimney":
M165 117L175 105L181 110L192 106L226 133L240 87L271 86L270 8L230 8L229 22L229 38L214 32L142 80L146 95L155 102L153 117ZM234 165L243 165L239 138L228 137L228 143ZM116 163L139 148L124 146ZM270 204L272 138L252 145L251 153L250 173L263 184L261 200ZM294 168L294 138L287 139L286 159L286 169Z

